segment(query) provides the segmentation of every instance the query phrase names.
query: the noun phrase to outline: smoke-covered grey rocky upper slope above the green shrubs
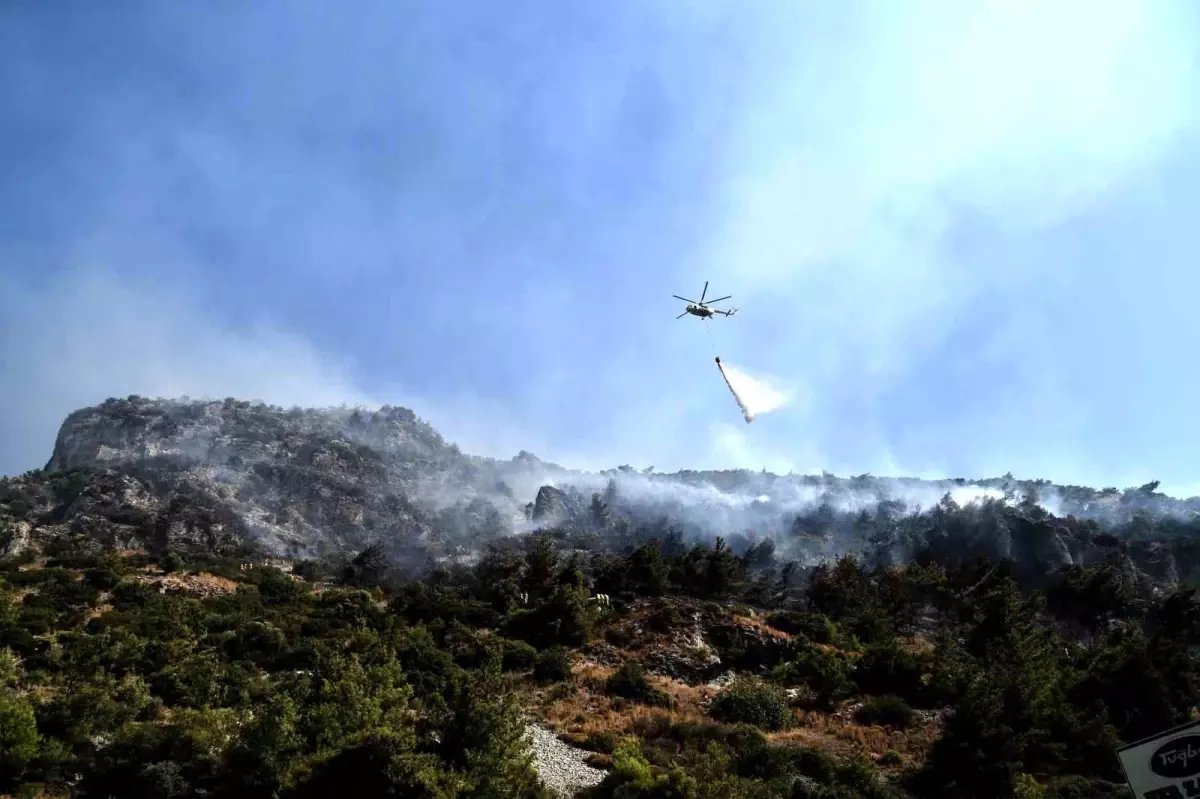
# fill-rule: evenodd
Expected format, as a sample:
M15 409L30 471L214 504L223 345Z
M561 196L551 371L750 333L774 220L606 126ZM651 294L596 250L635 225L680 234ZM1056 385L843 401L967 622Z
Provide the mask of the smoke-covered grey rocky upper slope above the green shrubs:
M1008 557L1031 573L1112 563L1134 579L1200 572L1200 498L1140 488L746 470L571 471L462 452L404 408L283 409L128 397L71 414L47 467L0 481L0 552L64 534L118 546L286 558L379 545L394 560L470 558L558 528L578 546L725 536L814 564L848 551ZM767 543L769 541L769 543Z

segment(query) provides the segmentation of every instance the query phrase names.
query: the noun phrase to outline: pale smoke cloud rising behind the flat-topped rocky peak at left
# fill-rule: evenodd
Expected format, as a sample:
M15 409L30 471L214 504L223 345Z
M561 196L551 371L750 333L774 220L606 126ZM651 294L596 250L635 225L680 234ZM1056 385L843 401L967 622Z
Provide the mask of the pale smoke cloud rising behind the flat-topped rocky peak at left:
M0 473L42 465L62 419L108 397L378 404L302 337L265 323L228 326L182 289L122 284L98 268L0 288L8 342L0 374L10 391Z

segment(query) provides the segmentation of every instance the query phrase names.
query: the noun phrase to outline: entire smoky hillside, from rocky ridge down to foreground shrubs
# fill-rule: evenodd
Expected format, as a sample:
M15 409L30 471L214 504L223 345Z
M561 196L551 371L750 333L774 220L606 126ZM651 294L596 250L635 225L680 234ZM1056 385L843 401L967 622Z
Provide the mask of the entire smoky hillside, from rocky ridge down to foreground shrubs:
M0 795L1126 797L1115 747L1200 713L1196 500L1156 488L109 401L0 482Z

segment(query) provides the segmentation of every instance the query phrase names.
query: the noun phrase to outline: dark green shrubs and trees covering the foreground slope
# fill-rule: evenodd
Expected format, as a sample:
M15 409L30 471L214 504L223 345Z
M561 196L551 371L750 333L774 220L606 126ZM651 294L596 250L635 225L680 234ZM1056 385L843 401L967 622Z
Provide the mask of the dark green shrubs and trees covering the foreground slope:
M649 626L664 630L672 601L706 603L721 660L748 675L709 723L598 741L611 771L595 797L1117 797L1114 749L1195 714L1200 607L1114 566L1034 589L1004 561L846 557L802 575L768 545L643 541L582 558L553 535L526 543L402 584L377 549L298 565L310 581L83 539L44 563L0 561L0 793L546 795L520 691L566 685L568 650L640 597L655 597ZM148 583L200 570L226 590ZM786 643L727 633L745 603ZM604 687L672 703L637 665ZM920 762L787 738L805 709L847 707L866 725L946 722Z

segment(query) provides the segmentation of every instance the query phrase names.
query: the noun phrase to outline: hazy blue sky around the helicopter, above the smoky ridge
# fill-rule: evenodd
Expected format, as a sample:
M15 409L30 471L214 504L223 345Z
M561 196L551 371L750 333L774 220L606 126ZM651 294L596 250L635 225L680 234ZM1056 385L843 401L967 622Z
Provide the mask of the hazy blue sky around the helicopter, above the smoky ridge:
M109 396L234 395L588 468L1200 493L1198 16L7 2L0 471ZM745 425L714 352L791 403Z

